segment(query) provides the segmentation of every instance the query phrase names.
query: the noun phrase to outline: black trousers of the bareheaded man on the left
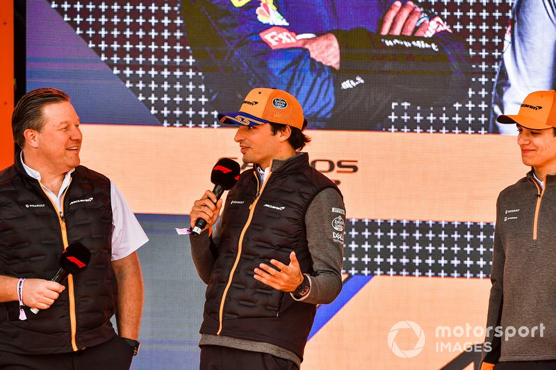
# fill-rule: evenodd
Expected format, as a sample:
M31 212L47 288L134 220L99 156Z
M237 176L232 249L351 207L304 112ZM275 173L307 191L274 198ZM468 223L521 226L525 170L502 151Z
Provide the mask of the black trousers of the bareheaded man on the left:
M129 370L133 347L115 336L82 351L52 355L20 355L0 351L2 370Z

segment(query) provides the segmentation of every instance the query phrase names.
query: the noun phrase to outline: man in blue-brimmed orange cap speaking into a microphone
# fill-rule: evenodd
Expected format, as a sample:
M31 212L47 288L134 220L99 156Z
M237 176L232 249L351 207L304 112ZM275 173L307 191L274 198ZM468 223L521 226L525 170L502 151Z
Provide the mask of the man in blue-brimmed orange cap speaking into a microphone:
M240 112L243 162L226 199L207 190L190 212L197 272L208 284L201 326L201 369L298 369L316 305L342 287L345 207L338 187L309 165L300 103L256 88ZM214 227L212 227L214 226Z

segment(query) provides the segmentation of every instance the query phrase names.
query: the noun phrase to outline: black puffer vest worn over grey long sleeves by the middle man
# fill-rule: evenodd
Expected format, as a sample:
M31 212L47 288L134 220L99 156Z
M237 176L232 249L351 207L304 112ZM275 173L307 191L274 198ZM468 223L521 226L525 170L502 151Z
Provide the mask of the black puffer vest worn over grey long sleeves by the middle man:
M337 187L309 165L306 153L259 183L256 170L245 171L227 196L201 333L268 342L303 358L316 305L264 285L253 270L261 262L272 266L272 258L287 265L295 251L301 271L312 274L305 213L320 191Z

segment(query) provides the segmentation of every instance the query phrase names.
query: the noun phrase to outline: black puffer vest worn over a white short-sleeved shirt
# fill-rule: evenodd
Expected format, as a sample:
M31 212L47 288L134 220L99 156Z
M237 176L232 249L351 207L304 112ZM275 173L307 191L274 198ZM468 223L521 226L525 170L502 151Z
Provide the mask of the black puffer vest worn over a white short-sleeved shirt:
M112 208L110 180L76 167L63 201L63 218L38 180L19 162L0 172L0 274L50 280L58 271L67 242L91 252L88 267L66 280L65 291L47 310L19 320L19 303L0 303L0 349L15 353L65 353L113 337L117 281L111 267ZM65 224L65 227L64 225ZM23 285L25 289L25 284ZM73 291L74 298L70 298ZM72 326L75 335L72 335Z

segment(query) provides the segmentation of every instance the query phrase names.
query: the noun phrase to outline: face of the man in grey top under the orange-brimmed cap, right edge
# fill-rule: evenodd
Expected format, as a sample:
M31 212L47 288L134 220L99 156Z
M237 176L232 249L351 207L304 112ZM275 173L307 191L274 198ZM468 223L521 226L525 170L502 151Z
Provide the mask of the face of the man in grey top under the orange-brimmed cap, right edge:
M540 180L556 174L556 135L552 128L531 130L518 125L517 143L523 164L533 167Z

